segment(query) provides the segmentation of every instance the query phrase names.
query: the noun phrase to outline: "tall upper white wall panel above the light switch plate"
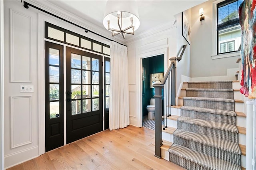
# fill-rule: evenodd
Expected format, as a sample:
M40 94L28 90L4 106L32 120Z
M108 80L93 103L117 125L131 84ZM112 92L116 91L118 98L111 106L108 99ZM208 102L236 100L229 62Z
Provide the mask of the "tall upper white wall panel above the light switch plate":
M10 10L10 81L32 83L31 17Z

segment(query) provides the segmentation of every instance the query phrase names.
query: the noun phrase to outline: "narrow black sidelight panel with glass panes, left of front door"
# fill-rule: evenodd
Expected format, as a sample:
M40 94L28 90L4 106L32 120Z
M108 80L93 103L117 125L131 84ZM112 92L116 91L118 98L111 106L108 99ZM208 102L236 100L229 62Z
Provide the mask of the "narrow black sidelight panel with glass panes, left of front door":
M45 148L64 145L63 46L45 42Z

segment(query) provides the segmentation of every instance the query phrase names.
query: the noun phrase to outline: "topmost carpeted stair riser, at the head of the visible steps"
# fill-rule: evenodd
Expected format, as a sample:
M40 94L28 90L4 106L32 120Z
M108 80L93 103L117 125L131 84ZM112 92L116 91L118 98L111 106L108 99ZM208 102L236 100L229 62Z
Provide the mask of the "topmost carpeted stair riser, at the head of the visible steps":
M188 83L193 89L232 89L231 83Z

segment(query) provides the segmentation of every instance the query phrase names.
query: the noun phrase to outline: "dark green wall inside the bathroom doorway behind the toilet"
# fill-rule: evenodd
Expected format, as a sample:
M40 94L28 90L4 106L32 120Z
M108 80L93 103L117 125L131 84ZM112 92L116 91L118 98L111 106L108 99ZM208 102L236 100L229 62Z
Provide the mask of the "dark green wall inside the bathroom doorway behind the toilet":
M145 82L142 82L142 88L144 84L144 90L142 89L142 116L145 116L148 115L147 105L149 105L150 99L154 98L155 94L154 88L150 88L150 74L164 72L164 55L142 59L142 67L146 71Z

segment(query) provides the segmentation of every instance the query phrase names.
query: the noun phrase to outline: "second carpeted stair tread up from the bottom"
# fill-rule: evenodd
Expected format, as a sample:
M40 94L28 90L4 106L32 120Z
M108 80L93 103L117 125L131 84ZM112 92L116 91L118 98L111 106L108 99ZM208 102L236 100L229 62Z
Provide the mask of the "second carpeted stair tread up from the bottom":
M203 134L198 134L195 132L190 132L188 130L177 129L173 133L174 136L179 136L181 138L185 138L187 140L193 140L195 142L199 142L201 144L205 144L208 146L212 146L224 151L228 151L234 154L241 155L241 150L239 148L238 143L230 142L227 140L222 140L220 138L215 138Z

